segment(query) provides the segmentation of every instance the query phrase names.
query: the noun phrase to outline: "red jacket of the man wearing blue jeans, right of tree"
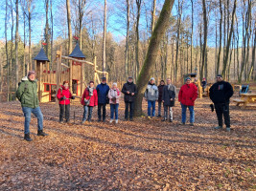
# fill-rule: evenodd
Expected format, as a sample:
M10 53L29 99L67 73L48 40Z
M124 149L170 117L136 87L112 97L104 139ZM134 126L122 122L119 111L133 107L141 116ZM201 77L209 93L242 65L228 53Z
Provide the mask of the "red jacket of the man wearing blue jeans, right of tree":
M198 98L198 88L194 83L184 84L178 93L178 101L183 105L194 106Z

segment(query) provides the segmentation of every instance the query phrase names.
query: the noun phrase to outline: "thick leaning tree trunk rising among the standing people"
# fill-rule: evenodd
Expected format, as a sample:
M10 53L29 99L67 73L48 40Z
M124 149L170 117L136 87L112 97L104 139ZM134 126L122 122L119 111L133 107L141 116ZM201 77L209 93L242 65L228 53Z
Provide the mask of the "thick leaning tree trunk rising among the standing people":
M168 28L168 23L169 23L169 19L170 19L170 15L171 15L171 11L173 9L174 3L175 3L175 0L165 0L159 19L152 32L148 53L137 81L138 95L136 96L136 99L135 99L135 116L136 117L139 117L142 115L143 95L152 74L152 69L154 67L155 60L157 58L157 52L159 49L160 42L162 40L162 37L166 29Z

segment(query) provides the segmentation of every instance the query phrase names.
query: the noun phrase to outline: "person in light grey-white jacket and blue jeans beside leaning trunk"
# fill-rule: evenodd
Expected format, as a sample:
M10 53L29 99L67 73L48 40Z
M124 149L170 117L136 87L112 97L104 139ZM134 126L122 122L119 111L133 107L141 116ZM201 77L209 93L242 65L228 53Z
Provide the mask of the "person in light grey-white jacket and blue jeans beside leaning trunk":
M148 117L155 117L155 101L158 99L158 88L154 85L154 78L151 77L151 80L147 86L145 92L146 101L148 101ZM152 110L151 110L152 108Z

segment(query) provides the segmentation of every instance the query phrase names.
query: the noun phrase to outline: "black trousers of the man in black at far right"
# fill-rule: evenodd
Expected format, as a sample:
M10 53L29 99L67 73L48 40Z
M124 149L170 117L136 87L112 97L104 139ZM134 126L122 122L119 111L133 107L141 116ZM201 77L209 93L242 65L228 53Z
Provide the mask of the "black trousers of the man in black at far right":
M227 103L215 103L214 104L215 111L218 117L219 126L222 127L224 117L224 122L226 127L230 127L230 116L229 116L229 102Z

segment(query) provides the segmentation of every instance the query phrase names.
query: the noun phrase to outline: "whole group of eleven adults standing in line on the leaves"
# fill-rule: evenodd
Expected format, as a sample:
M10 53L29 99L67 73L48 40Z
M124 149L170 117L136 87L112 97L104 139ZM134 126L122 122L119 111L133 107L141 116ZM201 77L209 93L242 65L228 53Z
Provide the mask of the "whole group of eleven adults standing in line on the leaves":
M178 93L178 101L181 105L182 117L181 125L186 123L187 108L190 111L190 125L194 126L195 112L194 105L198 97L198 88L187 77L185 84L181 86ZM155 80L151 77L147 89L145 91L145 99L148 101L148 117L155 117L155 102L158 102L158 117L161 117L161 108L164 107L163 121L169 120L173 122L173 107L175 106L176 87L172 84L171 79L167 79L167 84L164 80L160 81L157 87ZM105 122L106 104L110 104L110 123L115 120L118 123L118 108L121 98L121 93L124 94L126 104L125 120L133 120L134 100L137 95L137 87L133 83L133 78L128 77L128 82L124 84L122 91L117 87L117 83L113 83L111 88L106 84L106 78L103 77L101 84L96 88L94 82L90 81L89 86L85 88L81 96L81 105L83 106L83 116L81 124L86 121L91 121L92 111L95 106L98 106L98 121ZM37 80L35 79L35 72L30 71L26 77L23 77L19 83L16 92L18 100L21 102L22 111L25 117L25 136L24 139L31 141L30 137L30 121L31 114L37 117L38 130L37 136L45 137L46 133L43 132L43 115L39 107L37 97ZM214 102L216 109L219 126L216 129L222 128L222 116L226 125L226 130L230 131L230 117L229 117L229 98L233 96L232 86L222 80L222 76L217 75L217 83L210 88L210 98ZM70 113L70 99L75 99L75 96L69 91L69 84L67 81L58 89L58 103L59 103L59 122L69 123Z

